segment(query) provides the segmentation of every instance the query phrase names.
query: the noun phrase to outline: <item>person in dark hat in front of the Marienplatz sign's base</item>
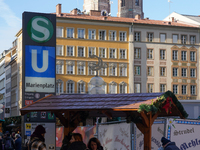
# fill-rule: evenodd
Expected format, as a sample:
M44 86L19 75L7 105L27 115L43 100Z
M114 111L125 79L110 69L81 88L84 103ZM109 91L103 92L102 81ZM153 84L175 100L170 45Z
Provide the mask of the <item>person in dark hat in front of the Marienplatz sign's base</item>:
M42 125L38 125L35 128L33 134L31 134L31 139L28 142L29 150L46 150L44 135L46 133L45 128ZM30 149L31 148L31 149Z

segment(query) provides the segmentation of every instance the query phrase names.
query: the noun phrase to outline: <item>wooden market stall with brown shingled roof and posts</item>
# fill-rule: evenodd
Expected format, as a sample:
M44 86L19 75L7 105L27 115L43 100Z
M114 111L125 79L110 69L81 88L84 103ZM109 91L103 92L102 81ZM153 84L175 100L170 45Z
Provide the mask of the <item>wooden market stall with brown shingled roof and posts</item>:
M157 117L187 117L181 103L171 92L132 94L67 94L50 95L23 107L21 114L51 111L72 132L87 117L126 117L144 134L144 150L151 149L151 126Z

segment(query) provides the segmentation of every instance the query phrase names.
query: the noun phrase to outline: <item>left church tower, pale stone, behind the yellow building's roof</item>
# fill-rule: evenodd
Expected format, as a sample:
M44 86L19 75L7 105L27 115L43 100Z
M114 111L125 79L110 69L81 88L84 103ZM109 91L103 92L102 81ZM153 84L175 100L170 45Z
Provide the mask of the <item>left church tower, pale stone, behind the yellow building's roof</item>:
M90 10L102 11L110 13L110 0L84 0L83 11L86 13Z

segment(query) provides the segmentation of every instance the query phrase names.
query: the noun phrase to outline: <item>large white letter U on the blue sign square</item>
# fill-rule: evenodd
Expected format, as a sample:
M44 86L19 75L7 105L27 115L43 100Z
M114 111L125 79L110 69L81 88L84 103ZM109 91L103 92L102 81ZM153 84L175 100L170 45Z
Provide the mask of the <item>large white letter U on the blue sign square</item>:
M48 51L43 51L43 66L38 68L37 66L37 50L32 50L32 67L36 72L45 72L48 68Z

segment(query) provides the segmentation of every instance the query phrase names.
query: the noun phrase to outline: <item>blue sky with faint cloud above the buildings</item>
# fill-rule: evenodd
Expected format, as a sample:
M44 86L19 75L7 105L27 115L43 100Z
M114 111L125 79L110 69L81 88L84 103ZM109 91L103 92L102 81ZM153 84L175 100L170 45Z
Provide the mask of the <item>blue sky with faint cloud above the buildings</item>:
M74 8L83 10L84 0L0 0L0 53L12 47L16 33L22 27L24 11L53 13L56 5L62 4L62 12L69 13ZM111 0L111 15L117 15L118 0ZM200 0L143 0L144 17L163 20L169 12L187 15L200 15Z

